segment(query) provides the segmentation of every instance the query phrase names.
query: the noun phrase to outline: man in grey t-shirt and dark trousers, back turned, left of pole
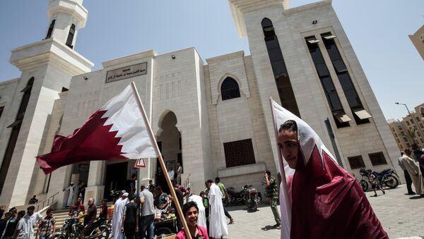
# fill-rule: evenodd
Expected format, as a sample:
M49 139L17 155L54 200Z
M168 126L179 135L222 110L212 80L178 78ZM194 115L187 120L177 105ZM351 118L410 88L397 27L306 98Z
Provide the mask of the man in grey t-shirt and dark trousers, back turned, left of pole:
M140 191L139 235L141 239L151 239L154 236L153 222L155 221L155 205L153 204L153 193L150 190L146 190L144 185L141 185Z

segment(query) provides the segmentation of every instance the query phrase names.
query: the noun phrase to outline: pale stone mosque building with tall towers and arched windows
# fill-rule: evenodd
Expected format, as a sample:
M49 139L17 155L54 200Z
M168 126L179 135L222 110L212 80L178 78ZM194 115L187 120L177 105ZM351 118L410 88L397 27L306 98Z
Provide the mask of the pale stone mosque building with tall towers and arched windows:
M122 189L134 160L87 161L45 175L35 156L69 135L134 81L168 168L180 162L193 192L219 176L227 187L264 193L278 156L269 97L310 123L348 171L397 166L399 148L330 0L288 8L288 0L229 0L243 51L201 59L196 48L154 50L93 63L73 50L86 25L83 0L49 0L45 39L11 50L22 72L0 82L0 205L30 197L66 204L71 181L97 202ZM43 34L40 32L40 34ZM154 178L146 160L143 182ZM399 171L399 169L398 169Z

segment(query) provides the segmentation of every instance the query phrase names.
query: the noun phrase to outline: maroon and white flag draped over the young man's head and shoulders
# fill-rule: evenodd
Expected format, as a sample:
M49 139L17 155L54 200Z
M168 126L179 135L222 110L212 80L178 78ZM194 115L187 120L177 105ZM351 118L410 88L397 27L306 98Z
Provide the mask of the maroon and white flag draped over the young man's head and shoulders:
M281 238L388 238L359 183L338 166L317 133L305 121L270 99L274 130L288 120L298 131L295 169L278 157Z

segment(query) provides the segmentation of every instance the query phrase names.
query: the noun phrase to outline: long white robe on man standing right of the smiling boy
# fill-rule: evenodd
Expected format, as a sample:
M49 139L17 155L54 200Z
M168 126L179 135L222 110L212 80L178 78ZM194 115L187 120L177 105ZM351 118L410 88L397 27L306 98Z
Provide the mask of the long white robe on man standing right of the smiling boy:
M209 237L220 238L228 235L227 219L224 214L222 192L219 187L212 183L209 189L209 204L211 205L211 221L209 221Z

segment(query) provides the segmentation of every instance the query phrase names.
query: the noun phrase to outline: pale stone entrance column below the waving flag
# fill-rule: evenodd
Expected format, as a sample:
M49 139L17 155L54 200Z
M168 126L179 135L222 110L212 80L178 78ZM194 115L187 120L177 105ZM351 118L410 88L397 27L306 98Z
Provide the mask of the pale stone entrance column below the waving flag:
M104 174L105 161L90 161L90 170L88 171L88 181L86 195L84 195L84 204L87 204L90 197L94 198L95 204L100 204L105 192Z

